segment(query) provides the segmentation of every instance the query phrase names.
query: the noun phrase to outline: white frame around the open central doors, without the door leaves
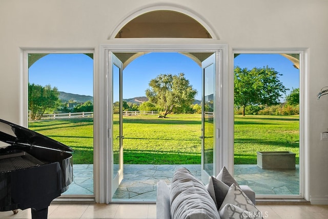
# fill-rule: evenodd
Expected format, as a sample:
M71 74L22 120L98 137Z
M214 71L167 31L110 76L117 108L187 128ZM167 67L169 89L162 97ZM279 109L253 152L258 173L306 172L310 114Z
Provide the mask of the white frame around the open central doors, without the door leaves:
M213 42L213 41L211 41ZM98 177L95 177L94 193L97 203L111 203L111 108L109 103L109 91L111 87L111 66L109 65L110 52L216 52L221 55L216 55L216 124L217 124L217 141L216 141L216 170L220 170L223 166L228 166L228 146L231 145L231 134L229 130L233 131L233 115L229 115L229 104L233 93L229 95L229 90L232 89L229 82L232 81L231 74L228 74L228 45L227 44L124 44L124 45L100 45L99 48L99 74L96 75L97 90L95 98L98 99L97 109L98 115L94 117L94 125L97 130L97 162L95 162L95 169L97 169ZM230 117L230 123L229 123ZM106 122L108 121L108 123ZM232 121L232 122L231 122ZM220 123L219 123L220 122ZM224 130L224 131L223 131ZM231 132L230 132L231 133ZM231 136L230 136L231 135ZM230 140L229 140L230 137ZM233 140L233 138L232 138ZM230 142L230 144L229 144ZM232 142L233 144L233 142ZM233 153L232 153L233 154ZM230 159L231 160L231 159ZM218 174L216 172L216 174ZM130 201L136 202L136 201Z

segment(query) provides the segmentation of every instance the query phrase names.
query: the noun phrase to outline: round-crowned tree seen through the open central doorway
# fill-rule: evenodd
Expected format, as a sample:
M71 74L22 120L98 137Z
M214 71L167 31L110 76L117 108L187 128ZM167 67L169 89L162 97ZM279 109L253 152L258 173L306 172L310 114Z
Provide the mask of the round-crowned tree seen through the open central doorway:
M166 117L173 109L183 112L189 108L197 94L197 90L193 89L183 73L160 74L151 79L149 87L146 90L146 96L151 103L165 111L163 117Z

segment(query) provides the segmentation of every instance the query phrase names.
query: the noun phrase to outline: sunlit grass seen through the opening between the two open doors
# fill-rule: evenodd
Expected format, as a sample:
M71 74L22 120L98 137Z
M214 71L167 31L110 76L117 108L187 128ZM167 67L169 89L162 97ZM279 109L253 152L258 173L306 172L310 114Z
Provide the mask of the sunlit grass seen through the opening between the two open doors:
M124 117L125 164L200 164L199 114Z

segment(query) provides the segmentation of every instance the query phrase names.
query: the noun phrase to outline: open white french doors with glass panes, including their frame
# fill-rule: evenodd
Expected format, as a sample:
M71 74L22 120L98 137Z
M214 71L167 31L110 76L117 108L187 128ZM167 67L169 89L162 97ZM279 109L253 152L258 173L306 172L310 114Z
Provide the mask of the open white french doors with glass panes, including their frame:
M132 50L132 51L131 51ZM222 89L227 92L227 76L222 72L228 69L228 46L220 44L200 45L106 45L100 47L100 74L99 74L99 116L95 117L96 127L99 127L99 147L96 174L99 173L95 185L95 198L97 203L113 202L113 194L123 179L123 138L122 133L122 62L115 54L145 54L148 52L180 52L191 58L198 56L203 74L203 114L202 114L202 179L207 183L210 175L216 175L217 170L228 157L228 149L220 148L229 141L228 135L220 130L228 130L228 111L222 108L220 102L228 103L228 97L219 94ZM182 51L182 52L181 52ZM224 55L222 55L224 54ZM136 55L137 57L138 55ZM118 56L120 57L120 56ZM207 57L207 58L206 58ZM124 59L124 65L130 62ZM224 86L222 81L226 80ZM104 83L105 82L105 83ZM101 102L104 100L104 102ZM116 112L115 112L116 110ZM207 113L204 113L207 112ZM220 113L218 113L220 112ZM223 112L223 113L222 113ZM226 112L226 113L224 113ZM117 114L118 113L118 114ZM105 120L105 118L108 118ZM107 122L105 122L107 121ZM233 124L233 123L232 123ZM230 124L231 125L231 124ZM219 137L222 136L222 137ZM226 159L222 158L225 154ZM220 162L218 162L220 161ZM99 179L99 180L98 180Z

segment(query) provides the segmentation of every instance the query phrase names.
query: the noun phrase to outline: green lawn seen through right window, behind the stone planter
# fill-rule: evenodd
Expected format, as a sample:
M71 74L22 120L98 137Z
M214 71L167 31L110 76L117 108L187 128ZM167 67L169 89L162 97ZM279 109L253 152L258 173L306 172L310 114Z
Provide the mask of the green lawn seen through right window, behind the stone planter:
M299 163L299 116L235 115L235 164L256 164L257 151L292 151Z

